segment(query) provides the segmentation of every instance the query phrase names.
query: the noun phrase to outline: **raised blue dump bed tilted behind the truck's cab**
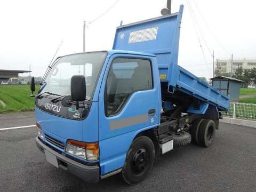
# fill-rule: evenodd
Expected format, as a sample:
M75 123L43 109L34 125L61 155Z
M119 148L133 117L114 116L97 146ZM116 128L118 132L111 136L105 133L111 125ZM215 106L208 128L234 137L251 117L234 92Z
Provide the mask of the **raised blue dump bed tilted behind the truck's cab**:
M178 13L117 27L113 49L155 54L161 82L167 83L170 94L178 90L227 111L229 96L178 66L182 12L183 5Z

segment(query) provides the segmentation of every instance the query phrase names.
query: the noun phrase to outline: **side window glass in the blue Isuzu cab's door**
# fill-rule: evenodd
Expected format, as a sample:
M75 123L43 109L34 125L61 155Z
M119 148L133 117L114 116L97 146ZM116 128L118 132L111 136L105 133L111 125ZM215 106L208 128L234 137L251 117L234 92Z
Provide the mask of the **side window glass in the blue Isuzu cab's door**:
M149 60L114 59L106 84L106 115L117 114L133 92L152 88L152 71Z

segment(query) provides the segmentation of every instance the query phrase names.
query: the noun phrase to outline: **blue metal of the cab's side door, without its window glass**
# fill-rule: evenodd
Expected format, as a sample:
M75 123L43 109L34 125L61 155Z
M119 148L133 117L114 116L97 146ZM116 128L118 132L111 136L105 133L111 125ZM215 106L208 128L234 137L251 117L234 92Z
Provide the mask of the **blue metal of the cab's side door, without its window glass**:
M118 114L107 117L105 114L105 87L111 63L116 58L149 60L151 63L153 89L133 92ZM105 74L102 78L99 91L99 144L101 174L106 174L110 171L123 167L127 150L129 150L135 136L141 131L152 129L159 125L162 106L160 89L158 65L155 57L123 53L115 53L111 55L107 63ZM134 107L134 103L137 104L137 107ZM145 110L143 111L144 108ZM155 114L153 116L149 114L149 109L152 108L155 109ZM142 111L143 113L141 113ZM145 114L148 115L147 122L141 121L140 119L145 118ZM113 121L115 121L117 125L114 129L111 129L110 122ZM129 121L134 121L135 124L131 125ZM120 122L121 124L125 124L126 122L126 125L128 126L118 127L118 123ZM137 122L138 124L136 124Z

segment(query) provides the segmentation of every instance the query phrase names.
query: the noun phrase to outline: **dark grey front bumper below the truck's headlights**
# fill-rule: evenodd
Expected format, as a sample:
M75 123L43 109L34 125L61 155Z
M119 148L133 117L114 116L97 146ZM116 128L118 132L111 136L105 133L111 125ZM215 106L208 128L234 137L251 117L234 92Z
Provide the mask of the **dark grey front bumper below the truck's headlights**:
M37 147L43 153L45 150L47 150L52 155L54 155L57 158L59 167L61 167L63 170L69 171L70 173L76 175L78 178L81 178L86 182L95 183L99 181L100 167L98 165L89 166L89 165L84 165L82 163L78 163L70 158L67 158L59 154L57 151L54 151L50 147L46 146L38 138L36 138L36 144L37 144Z

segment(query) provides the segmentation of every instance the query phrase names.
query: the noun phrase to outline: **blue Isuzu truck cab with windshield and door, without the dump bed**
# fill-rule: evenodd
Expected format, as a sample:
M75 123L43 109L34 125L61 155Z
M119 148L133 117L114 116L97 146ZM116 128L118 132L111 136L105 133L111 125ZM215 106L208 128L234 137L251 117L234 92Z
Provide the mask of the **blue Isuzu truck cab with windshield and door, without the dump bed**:
M86 99L79 103L85 107L78 109L74 103L64 102L71 99L70 81L77 74L85 76L86 82ZM42 131L37 143L85 165L94 165L99 179L99 175L123 166L127 150L139 132L159 124L159 89L153 54L110 50L61 57L35 99L37 126ZM76 149L67 150L68 143L76 145L76 141L89 146L94 143L95 154L84 150L77 155ZM91 173L85 176L85 180L93 179Z

